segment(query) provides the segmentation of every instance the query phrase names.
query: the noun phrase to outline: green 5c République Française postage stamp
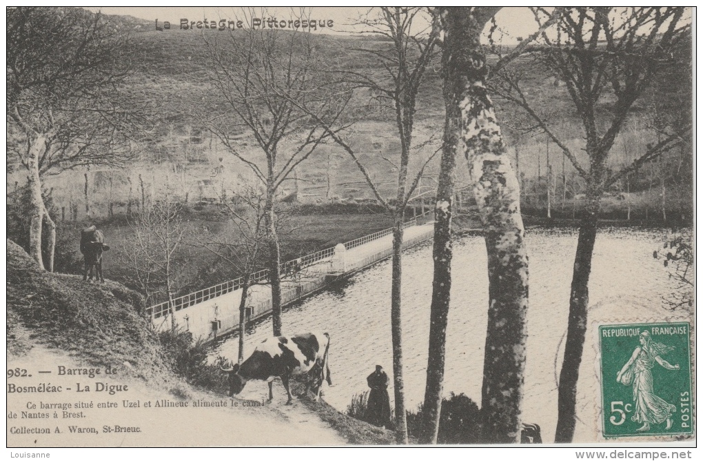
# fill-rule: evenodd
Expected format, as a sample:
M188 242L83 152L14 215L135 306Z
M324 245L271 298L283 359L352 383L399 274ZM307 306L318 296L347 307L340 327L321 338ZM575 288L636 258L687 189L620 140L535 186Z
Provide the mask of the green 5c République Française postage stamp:
M693 433L690 324L601 325L605 437Z

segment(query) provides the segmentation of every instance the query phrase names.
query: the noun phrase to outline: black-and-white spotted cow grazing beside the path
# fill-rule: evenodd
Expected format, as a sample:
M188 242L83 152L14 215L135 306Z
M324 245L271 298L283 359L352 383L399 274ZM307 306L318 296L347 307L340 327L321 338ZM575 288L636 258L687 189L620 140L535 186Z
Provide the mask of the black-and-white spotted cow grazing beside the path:
M320 388L324 379L330 386L330 367L328 355L330 335L327 333L305 333L293 336L275 336L266 338L254 349L252 355L241 365L233 365L222 371L228 373L229 396L240 393L250 379L269 381L269 402L273 400L273 379L280 377L283 387L288 393L290 405L293 396L290 393L290 376L306 375L305 394L310 389L314 392L314 400L320 396Z

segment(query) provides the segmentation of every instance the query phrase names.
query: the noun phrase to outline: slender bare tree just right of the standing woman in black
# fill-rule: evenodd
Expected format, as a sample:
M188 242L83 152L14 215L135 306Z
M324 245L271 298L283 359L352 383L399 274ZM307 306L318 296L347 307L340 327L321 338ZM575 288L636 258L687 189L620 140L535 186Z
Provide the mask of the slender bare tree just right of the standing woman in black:
M330 137L352 157L354 163L366 179L378 202L393 216L393 255L391 282L391 337L393 344L393 389L395 401L395 431L398 443L408 443L405 397L403 384L403 343L401 327L401 248L405 222L405 209L417 189L425 167L439 151L435 151L420 165L413 178L411 160L413 149L420 151L434 142L427 139L413 146L413 127L420 84L425 71L435 55L435 44L439 29L432 27L434 18L427 8L373 8L356 25L361 25L370 34L383 38L378 46L352 46L349 51L373 56L380 62L384 72L381 77L368 75L353 69L337 70L344 82L342 88L363 88L382 106L389 107L395 114L395 124L399 134L400 151L395 159L382 156L392 163L398 171L396 194L393 201L384 197L370 172L359 158L359 153L352 147L342 128L333 129L315 114L314 108L307 104L300 107L327 130ZM335 82L338 83L338 82ZM411 182L412 179L412 182Z

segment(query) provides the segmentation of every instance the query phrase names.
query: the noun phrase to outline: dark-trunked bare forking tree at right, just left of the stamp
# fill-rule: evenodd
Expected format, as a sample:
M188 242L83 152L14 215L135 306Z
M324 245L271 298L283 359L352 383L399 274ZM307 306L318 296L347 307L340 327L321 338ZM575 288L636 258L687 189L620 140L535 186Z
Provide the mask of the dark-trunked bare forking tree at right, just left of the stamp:
M533 8L543 23L550 11ZM588 165L581 165L565 142L538 114L519 79L510 72L503 75L502 96L517 103L531 115L546 134L569 158L586 180L586 206L579 227L579 242L574 260L569 326L564 361L559 380L559 418L555 441L570 442L576 424L576 383L588 325L588 279L595 244L602 194L629 172L657 158L690 137L690 121L666 127L659 141L617 172L607 168L607 159L617 135L631 113L633 104L645 94L654 75L690 31L685 8L571 8L557 24L556 35L543 33L541 44L532 46L531 56L544 63L566 84L572 103L582 122ZM614 100L607 113L598 110L605 96ZM686 113L687 110L683 110ZM663 127L659 127L663 130Z

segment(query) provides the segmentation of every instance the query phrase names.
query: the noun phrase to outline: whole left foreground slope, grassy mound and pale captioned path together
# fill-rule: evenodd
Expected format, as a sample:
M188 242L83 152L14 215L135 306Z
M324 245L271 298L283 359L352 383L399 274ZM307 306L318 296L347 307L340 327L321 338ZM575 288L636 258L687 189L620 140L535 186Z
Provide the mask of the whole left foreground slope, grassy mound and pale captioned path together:
M7 241L7 269L8 370L26 369L29 373L26 377L8 374L8 384L35 386L40 380L46 386L64 388L60 393L34 395L34 401L41 400L44 405L41 409L49 403L60 405L58 419L49 419L49 422L27 420L32 418L32 412L27 412L29 394L8 391L8 411L20 415L19 419L8 419L8 429L51 426L47 435L10 432L8 446L392 443L389 431L341 415L324 402L301 399L286 406L285 400L279 398L263 406L189 386L169 370L169 360L157 336L139 316L138 311L143 307L141 296L120 284L88 284L77 276L41 271L12 241ZM67 376L62 375L57 366L67 370L110 367L115 374L88 376L74 372L79 374ZM46 374L37 374L41 370L46 370L43 371ZM118 389L117 392L108 392L110 386ZM86 388L92 392L88 393ZM282 387L277 389L277 395L282 391ZM125 410L125 401L140 406ZM152 409L145 405L164 401L186 406ZM227 405L198 407L194 405L198 401L224 401ZM114 406L101 410L101 404ZM77 411L79 408L85 409ZM82 416L66 417L63 412L67 409L69 414L80 412ZM46 414L51 415L51 412ZM140 431L134 434L103 431L103 427L113 425L138 427ZM54 431L54 427L60 432ZM90 428L90 435L76 433L76 427ZM203 427L208 428L207 431L200 429ZM221 427L237 430L217 429Z

